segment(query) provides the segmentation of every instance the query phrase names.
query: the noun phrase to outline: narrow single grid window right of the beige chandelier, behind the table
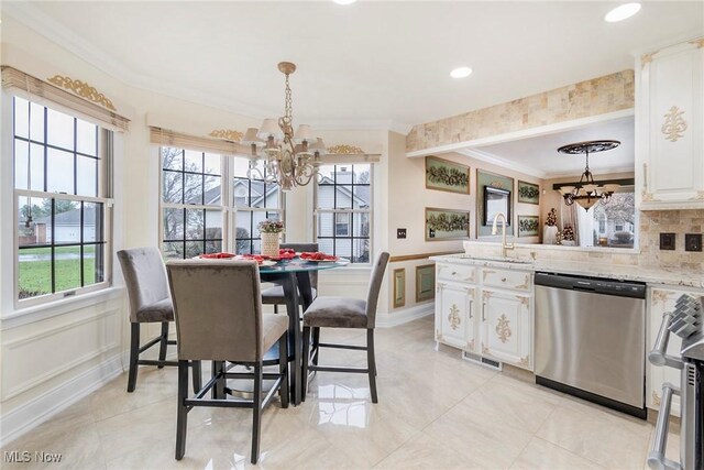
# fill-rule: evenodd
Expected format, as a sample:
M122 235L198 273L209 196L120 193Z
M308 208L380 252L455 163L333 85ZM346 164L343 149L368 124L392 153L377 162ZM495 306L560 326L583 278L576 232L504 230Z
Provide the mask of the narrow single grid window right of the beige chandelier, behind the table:
M316 240L320 251L369 263L372 166L322 165L316 185Z

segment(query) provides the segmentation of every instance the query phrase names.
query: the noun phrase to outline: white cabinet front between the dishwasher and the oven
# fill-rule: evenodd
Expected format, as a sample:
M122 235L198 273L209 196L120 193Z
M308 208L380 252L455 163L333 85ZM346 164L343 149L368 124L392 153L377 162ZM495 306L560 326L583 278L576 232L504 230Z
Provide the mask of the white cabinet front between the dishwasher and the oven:
M650 334L648 338L648 351L656 343L656 338L658 337L658 331L660 330L660 325L662 324L662 314L666 311L674 310L674 303L676 299L685 292L682 291L670 291L670 289L661 289L661 288L651 288L648 297L649 304L649 314L650 314ZM675 358L680 357L680 348L682 345L682 340L676 335L670 335L670 341L668 343L668 354L674 356ZM646 405L652 409L660 408L660 401L662 400L662 384L664 382L670 382L678 389L680 387L680 370L668 367L658 367L652 365L648 362L648 376L647 376L647 393L646 393ZM672 397L672 408L671 413L673 415L680 415L680 397Z

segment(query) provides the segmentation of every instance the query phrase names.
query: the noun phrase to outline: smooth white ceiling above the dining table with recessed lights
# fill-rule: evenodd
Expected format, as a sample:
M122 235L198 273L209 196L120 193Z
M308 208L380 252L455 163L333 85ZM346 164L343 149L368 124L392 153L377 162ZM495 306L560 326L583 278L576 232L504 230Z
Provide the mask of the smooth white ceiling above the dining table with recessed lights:
M255 118L279 116L292 61L294 113L326 127L391 127L634 67L632 53L704 31L704 2L33 1L10 14L122 81ZM452 68L469 65L465 79Z

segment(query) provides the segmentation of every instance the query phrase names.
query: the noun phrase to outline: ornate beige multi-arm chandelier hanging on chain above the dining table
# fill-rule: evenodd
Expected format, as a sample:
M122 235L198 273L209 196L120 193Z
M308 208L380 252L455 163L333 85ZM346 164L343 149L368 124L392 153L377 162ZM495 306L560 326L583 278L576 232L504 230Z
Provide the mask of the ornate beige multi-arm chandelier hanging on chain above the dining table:
M264 119L260 129L248 129L241 142L251 149L248 177L277 183L282 190L290 190L307 185L318 175L326 145L322 139L314 139L310 125L300 124L294 133L288 77L296 72L296 64L279 62L278 69L286 76L284 116L278 120ZM264 172L257 166L258 161L263 161Z

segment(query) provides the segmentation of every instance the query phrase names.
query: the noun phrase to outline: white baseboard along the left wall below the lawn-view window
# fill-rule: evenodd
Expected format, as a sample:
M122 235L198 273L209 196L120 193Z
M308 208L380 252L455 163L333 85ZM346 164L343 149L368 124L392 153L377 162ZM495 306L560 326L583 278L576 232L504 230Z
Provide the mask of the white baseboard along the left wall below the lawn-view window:
M3 413L0 418L0 447L6 447L121 373L122 358L116 354L10 413Z

